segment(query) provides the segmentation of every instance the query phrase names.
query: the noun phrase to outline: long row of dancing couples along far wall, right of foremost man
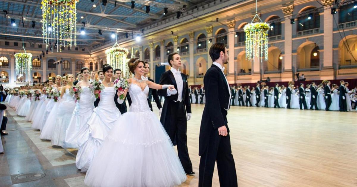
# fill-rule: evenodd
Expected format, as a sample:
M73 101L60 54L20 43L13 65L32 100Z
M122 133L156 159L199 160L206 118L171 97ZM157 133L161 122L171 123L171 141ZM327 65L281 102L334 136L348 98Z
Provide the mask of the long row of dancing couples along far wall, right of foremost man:
M242 87L241 84L231 87L231 105L351 111L352 104L357 100L357 87L349 90L348 82L343 80L340 86L331 85L328 80L323 80L320 84L312 82L306 87L303 83L295 86L293 81L289 82L287 87L278 83L275 87L268 87L266 83L261 84L257 83L256 87L252 88L249 85Z

